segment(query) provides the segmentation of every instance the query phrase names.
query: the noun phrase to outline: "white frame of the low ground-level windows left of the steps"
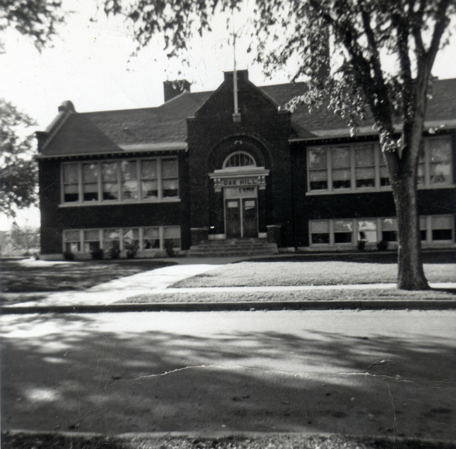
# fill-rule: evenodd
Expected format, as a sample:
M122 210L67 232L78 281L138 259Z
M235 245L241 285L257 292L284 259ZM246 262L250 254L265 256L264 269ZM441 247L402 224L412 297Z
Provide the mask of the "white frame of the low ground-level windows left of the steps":
M143 236L144 236L144 229L146 228L158 228L159 229L159 238L160 238L160 248L150 248L150 249L144 249L144 242L143 242ZM165 225L150 225L150 226L124 226L122 228L116 227L116 228L84 228L84 229L64 229L62 231L62 252L66 251L66 240L65 240L65 234L68 231L72 232L79 232L80 235L80 251L73 251L75 254L90 254L90 251L84 251L84 235L86 231L96 231L98 233L98 242L100 244L100 249L105 250L105 239L104 239L104 232L105 231L110 231L110 230L116 230L119 231L119 247L121 251L125 250L125 241L127 239L124 238L124 230L127 229L137 229L138 234L139 234L139 252L144 252L145 254L149 253L154 253L157 251L164 251L165 250L165 229L178 229L179 230L179 239L180 239L180 246L179 247L174 247L174 249L180 249L182 245L182 232L180 229L179 225L170 225L170 226L165 226ZM177 238L177 237L176 237ZM94 241L94 240L91 240ZM75 242L74 240L71 240L71 242Z

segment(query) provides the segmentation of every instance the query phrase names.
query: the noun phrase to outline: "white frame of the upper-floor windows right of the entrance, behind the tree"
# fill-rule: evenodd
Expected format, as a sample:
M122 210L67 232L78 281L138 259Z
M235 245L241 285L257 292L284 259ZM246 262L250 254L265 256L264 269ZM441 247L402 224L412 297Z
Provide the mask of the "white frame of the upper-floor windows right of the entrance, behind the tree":
M450 148L452 145L451 136L432 136L432 137L425 137L424 138L424 151L425 151L425 161L424 161L424 168L425 168L425 183L419 184L417 188L419 190L426 190L426 189L449 189L454 187L454 179L450 179L449 183L436 183L432 184L430 182L430 149L429 149L429 142L431 140L441 140L447 139L450 142ZM356 186L356 158L355 158L355 149L359 146L366 146L372 144L374 148L374 172L375 172L375 182L374 186L372 187L357 187ZM333 176L332 176L332 153L333 150L340 148L341 146L348 146L350 147L350 160L351 160L351 187L347 189L333 189ZM326 150L326 185L327 189L321 190L311 190L311 172L313 171L310 166L310 151L312 149L325 149ZM449 155L450 159L450 173L453 173L453 157L452 151L450 151ZM380 179L380 167L384 166L384 157L380 148L380 145L377 141L366 141L366 142L354 142L348 144L335 144L335 145L312 145L307 148L307 193L306 195L334 195L334 194L348 194L348 193L362 193L362 192L385 192L391 191L390 185L381 185ZM323 169L322 169L323 170Z

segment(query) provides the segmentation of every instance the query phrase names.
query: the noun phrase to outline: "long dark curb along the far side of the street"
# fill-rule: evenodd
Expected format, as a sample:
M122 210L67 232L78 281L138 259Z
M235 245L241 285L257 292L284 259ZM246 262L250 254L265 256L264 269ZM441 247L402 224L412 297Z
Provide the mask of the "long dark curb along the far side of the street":
M2 306L2 315L32 313L223 312L277 310L451 310L456 300L269 301L227 303L135 303L77 306Z

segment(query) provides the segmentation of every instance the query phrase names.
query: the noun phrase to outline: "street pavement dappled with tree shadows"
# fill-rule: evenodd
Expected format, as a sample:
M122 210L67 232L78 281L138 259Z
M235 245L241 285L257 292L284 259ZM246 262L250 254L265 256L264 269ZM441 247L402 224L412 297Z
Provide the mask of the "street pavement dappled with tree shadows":
M0 317L2 430L456 439L455 311Z

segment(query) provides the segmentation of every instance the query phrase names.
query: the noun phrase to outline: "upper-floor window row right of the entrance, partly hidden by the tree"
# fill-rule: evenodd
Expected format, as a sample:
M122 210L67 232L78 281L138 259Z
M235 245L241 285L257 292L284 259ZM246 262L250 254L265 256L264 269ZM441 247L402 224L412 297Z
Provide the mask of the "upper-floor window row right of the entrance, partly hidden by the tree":
M425 138L418 188L452 184L451 173L451 138ZM389 185L388 169L377 142L309 148L309 192L381 190Z

